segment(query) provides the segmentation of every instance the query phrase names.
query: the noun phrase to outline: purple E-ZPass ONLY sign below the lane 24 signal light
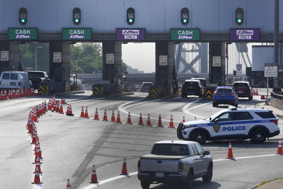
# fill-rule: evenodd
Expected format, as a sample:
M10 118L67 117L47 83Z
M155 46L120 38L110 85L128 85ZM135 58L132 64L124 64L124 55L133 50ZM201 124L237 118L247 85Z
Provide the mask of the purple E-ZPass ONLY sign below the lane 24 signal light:
M231 41L259 41L259 28L230 28Z

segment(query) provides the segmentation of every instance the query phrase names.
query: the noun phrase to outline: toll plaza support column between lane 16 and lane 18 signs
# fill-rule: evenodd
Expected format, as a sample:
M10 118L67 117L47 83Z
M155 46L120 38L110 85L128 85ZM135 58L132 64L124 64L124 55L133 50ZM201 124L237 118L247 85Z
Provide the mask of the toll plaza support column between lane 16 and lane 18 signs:
M62 61L53 62L53 52L62 53ZM49 76L55 80L56 92L70 91L70 43L49 43Z

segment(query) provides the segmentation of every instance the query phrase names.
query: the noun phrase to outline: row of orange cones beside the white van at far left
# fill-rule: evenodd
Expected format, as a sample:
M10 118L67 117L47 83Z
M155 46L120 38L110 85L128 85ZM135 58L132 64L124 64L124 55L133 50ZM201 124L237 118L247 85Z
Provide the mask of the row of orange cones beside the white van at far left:
M4 90L4 91L1 90L0 100L28 97L28 96L33 96L33 95L34 95L33 88L9 89L8 92L7 90Z

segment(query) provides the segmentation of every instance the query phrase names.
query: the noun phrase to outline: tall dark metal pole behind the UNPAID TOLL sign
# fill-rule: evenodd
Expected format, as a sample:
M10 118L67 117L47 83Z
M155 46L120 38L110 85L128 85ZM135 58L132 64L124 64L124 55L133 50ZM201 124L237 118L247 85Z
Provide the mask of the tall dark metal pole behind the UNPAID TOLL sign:
M279 0L274 0L274 31L273 31L273 42L274 42L274 63L277 63L277 76L278 76L278 66L279 66ZM273 80L273 91L278 90L275 88L275 82Z

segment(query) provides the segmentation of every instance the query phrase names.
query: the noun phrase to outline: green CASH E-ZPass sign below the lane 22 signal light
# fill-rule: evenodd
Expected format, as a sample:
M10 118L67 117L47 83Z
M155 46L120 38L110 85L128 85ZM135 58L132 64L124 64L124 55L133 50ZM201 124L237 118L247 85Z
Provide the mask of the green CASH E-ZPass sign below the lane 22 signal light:
M198 41L200 29L170 29L172 41Z

